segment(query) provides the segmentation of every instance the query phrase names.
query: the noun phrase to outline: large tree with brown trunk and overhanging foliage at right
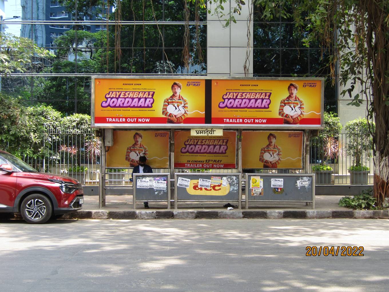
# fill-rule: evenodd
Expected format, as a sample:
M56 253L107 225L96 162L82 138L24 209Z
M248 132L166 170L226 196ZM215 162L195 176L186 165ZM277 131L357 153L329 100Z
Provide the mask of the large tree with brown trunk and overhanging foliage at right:
M216 4L214 12L223 15L219 6L226 1L211 2ZM389 2L253 0L253 4L260 7L265 20L291 18L295 29L306 27L305 46L319 42L329 52L329 77L335 82L339 74L340 85L345 87L342 94L352 98L350 104L360 106L363 99L368 100L367 118L374 119L376 124L375 129L370 127L374 142L374 196L382 204L389 197ZM226 26L234 20L227 14ZM359 84L361 90L354 95Z

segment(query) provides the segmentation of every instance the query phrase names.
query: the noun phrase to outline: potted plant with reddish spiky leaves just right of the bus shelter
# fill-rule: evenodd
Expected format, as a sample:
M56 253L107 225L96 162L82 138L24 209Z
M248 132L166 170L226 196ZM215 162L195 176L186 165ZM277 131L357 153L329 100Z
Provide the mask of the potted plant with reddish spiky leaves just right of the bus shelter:
M315 183L331 184L333 167L328 164L335 163L338 155L344 155L342 142L338 135L342 130L339 118L336 113L324 113L324 129L319 135L312 139L311 148L318 154L312 165L315 172ZM312 153L312 151L311 151Z

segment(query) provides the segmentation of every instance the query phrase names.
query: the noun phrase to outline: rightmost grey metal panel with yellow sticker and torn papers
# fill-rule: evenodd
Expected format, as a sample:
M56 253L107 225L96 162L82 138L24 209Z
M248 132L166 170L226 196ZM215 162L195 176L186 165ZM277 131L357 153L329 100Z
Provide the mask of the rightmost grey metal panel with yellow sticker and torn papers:
M263 195L251 195L251 178L253 176L259 176L263 179ZM273 191L272 179L283 179L282 193ZM308 185L298 188L297 181L299 180L308 180ZM246 199L248 201L313 201L314 181L313 174L247 174Z

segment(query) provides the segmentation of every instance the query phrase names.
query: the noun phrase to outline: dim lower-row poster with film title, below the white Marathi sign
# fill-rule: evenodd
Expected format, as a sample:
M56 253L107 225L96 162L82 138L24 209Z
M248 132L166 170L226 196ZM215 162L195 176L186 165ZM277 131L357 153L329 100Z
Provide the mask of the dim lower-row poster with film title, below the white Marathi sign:
M175 168L235 168L237 132L223 136L191 136L190 131L174 132Z

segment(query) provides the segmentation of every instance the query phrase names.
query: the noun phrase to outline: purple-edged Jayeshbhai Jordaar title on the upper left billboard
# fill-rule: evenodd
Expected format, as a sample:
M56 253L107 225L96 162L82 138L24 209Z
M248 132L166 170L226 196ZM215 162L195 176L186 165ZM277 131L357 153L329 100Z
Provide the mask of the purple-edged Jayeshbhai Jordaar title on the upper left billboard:
M101 107L150 108L154 103L155 91L109 91Z

